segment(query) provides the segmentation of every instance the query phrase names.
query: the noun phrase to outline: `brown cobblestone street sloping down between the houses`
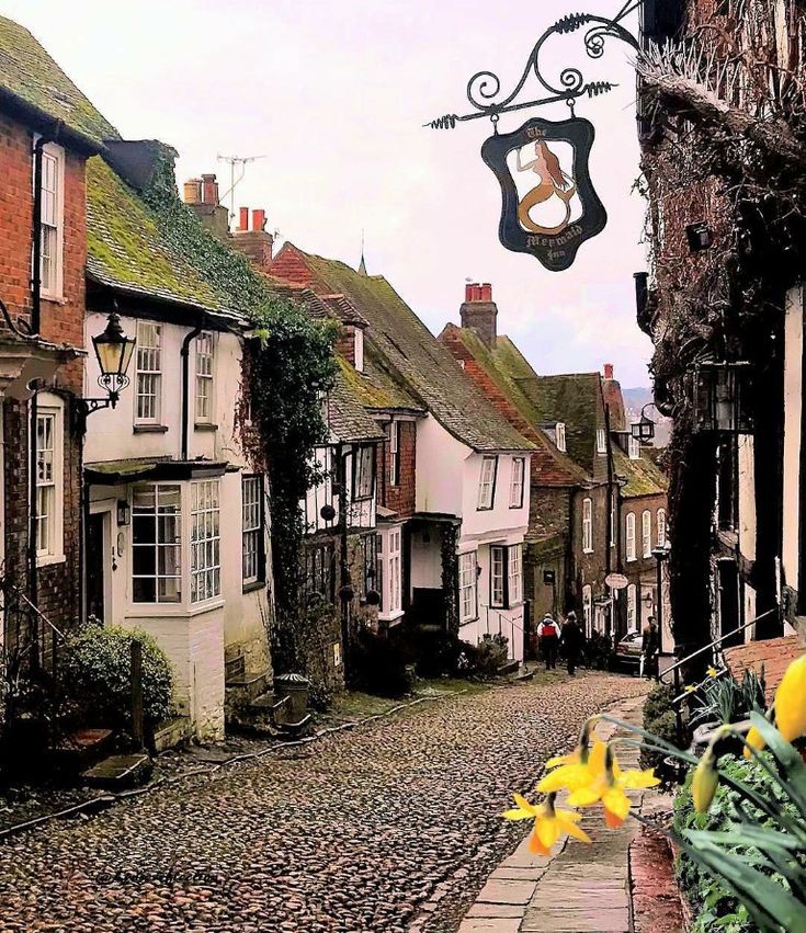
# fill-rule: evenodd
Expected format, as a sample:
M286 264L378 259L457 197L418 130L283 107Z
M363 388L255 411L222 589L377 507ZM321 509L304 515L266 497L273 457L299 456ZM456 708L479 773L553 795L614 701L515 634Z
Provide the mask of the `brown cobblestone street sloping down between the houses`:
M459 695L16 837L0 930L454 931L526 831L498 816L510 792L644 691L591 673Z

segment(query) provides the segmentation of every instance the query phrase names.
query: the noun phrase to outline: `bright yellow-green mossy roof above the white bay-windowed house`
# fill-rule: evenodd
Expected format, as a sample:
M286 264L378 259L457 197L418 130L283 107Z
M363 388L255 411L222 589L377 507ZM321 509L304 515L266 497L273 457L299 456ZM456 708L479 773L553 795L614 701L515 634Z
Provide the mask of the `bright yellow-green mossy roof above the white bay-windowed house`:
M87 162L87 271L103 285L204 310L232 310L162 234L160 218L100 156Z

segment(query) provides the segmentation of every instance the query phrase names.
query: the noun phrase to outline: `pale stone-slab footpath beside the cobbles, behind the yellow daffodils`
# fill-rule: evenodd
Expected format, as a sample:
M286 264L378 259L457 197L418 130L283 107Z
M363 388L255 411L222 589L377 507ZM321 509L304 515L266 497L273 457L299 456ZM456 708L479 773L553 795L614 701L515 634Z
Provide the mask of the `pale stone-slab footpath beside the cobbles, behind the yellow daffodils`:
M612 710L618 719L640 725L643 699ZM601 722L599 736L622 735ZM638 767L638 749L622 747L618 761ZM631 790L640 807L651 790ZM459 926L459 933L631 933L629 844L638 823L627 819L618 829L604 826L601 807L582 810L580 826L591 845L576 840L557 843L548 856L529 851L529 838L489 876Z

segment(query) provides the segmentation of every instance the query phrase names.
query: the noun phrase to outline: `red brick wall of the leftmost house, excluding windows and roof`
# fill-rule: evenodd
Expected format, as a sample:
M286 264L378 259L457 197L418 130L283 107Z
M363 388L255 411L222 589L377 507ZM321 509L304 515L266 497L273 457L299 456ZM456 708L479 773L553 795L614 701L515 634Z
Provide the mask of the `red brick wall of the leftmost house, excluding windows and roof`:
M0 297L12 316L31 315L33 228L33 135L0 115ZM42 300L42 334L54 343L83 346L87 195L84 159L65 153L64 301ZM63 366L48 388L65 398L65 560L38 571L38 604L59 628L78 618L80 593L80 436L72 430L71 396L82 394L81 359ZM5 479L5 565L27 587L29 407L3 403Z

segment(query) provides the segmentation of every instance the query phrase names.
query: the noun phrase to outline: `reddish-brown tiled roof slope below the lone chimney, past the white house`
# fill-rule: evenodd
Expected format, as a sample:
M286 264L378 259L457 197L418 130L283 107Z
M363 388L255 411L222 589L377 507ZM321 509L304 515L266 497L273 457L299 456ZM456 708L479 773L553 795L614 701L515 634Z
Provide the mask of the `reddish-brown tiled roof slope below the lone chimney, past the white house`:
M456 360L463 361L465 374L476 383L510 424L535 445L532 454L533 485L588 485L584 470L558 451L538 429L538 419L532 403L510 376L509 352L514 351L519 356L520 352L509 338L499 337L496 346L490 351L476 331L449 323L440 334L440 341L451 350ZM507 352L503 354L499 352L501 346L506 346ZM523 364L531 371L525 360Z

